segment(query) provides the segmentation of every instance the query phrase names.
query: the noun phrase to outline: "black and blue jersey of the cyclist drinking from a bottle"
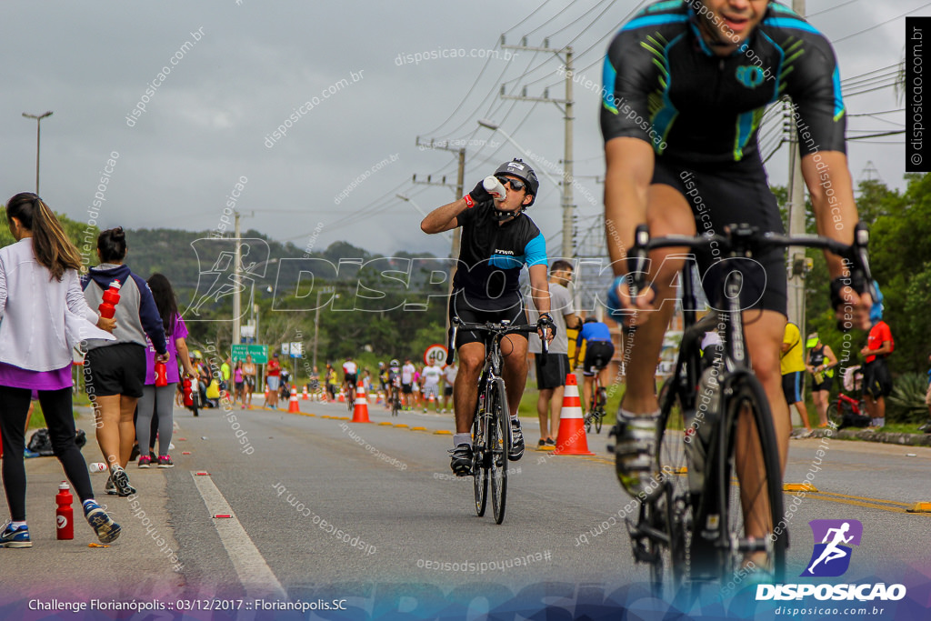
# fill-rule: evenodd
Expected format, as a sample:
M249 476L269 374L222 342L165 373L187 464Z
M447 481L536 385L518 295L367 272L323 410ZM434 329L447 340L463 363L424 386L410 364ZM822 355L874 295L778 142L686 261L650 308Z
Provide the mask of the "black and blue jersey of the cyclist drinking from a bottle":
M521 304L520 269L546 265L546 239L526 212L501 224L493 210L488 200L456 216L463 231L452 289L482 311Z

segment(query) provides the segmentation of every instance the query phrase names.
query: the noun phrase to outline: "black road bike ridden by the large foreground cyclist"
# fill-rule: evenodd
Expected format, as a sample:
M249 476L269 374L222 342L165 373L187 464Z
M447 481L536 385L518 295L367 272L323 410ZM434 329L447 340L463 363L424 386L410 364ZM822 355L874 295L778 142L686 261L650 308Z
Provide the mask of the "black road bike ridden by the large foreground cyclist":
M713 248L741 261L788 246L826 249L843 257L855 289L875 295L868 240L862 223L851 246L820 236L761 233L746 224L733 224L722 236L650 239L641 225L628 255L642 266L648 250L661 248ZM645 270L635 270L631 292L642 290L644 277ZM690 262L679 283L684 331L673 375L660 394L654 464L659 476L637 520L627 519L634 558L650 566L659 597L665 584L674 592L723 585L753 568L781 582L789 547L782 468L769 402L750 368L739 302L743 275L732 271L722 279L711 295L717 310L700 320ZM722 345L703 362L701 342L708 331L718 331ZM612 434L619 431L615 425Z

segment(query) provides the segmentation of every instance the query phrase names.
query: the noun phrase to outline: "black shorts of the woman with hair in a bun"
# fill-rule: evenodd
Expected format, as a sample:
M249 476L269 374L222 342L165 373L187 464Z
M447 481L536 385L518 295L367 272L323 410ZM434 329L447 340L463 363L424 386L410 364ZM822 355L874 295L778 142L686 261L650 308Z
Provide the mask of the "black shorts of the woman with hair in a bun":
M85 358L88 397L142 397L145 384L145 347L135 343L103 345L88 351Z

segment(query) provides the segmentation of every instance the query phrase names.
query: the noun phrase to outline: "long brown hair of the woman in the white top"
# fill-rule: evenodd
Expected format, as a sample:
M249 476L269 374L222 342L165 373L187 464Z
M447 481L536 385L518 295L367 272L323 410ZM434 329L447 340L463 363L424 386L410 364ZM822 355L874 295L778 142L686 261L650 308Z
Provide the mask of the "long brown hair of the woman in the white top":
M81 269L81 255L65 235L61 223L41 198L32 192L22 192L7 200L7 223L13 218L33 233L35 260L48 268L52 277L61 282L67 269Z

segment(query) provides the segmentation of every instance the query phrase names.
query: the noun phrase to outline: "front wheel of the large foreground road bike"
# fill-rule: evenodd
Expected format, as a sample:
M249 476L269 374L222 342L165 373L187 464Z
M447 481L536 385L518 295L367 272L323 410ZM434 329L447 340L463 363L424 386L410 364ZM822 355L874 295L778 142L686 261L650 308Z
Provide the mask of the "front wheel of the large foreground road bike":
M727 459L719 479L726 491L722 524L730 544L722 550L722 586L756 568L772 572L781 582L789 534L779 524L784 517L782 467L769 400L749 374L738 378L729 392L726 420L733 426L727 430Z

